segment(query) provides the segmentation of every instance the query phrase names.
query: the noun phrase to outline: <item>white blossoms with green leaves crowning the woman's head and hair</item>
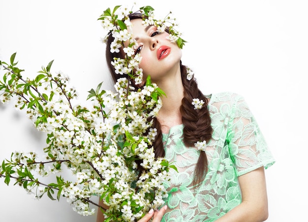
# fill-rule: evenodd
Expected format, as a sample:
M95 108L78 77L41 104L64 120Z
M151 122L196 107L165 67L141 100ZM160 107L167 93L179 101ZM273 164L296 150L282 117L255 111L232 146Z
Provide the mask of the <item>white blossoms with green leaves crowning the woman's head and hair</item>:
M144 26L154 25L161 32L168 29L169 40L177 43L180 48L183 48L186 41L180 37L182 33L176 30L178 24L174 18L166 16L164 19L156 19L154 16L154 8L151 6L141 7L138 12L145 15L142 22ZM103 41L107 42L109 35L113 37L113 41L110 44L110 52L119 53L122 48L125 53L123 58L113 58L111 64L115 68L115 73L120 75L126 74L134 79L136 84L141 84L143 70L138 65L142 57L140 54L135 54L138 43L132 38L132 33L129 31L131 30L129 20L131 13L132 11L129 11L127 7L116 6L113 11L110 8L105 10L99 20L102 21L103 28L108 31ZM123 44L124 42L126 42L125 46ZM134 71L132 72L132 70Z

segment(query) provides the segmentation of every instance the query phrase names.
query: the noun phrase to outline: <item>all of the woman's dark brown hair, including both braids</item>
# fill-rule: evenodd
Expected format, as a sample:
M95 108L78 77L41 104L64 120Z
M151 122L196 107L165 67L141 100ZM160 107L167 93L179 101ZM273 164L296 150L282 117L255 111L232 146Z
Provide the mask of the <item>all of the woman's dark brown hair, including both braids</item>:
M130 19L143 18L144 15L140 13L133 13L130 15ZM120 50L119 53L111 53L110 52L110 44L113 41L113 37L110 34L107 39L106 46L106 59L109 71L111 76L116 83L119 78L126 77L127 75L119 75L115 73L115 69L112 66L111 62L114 57L123 58L123 51ZM182 105L180 107L180 111L182 114L182 122L184 125L183 136L184 143L186 146L194 146L194 143L197 141L208 141L212 137L212 127L211 127L211 118L208 110L208 98L201 92L198 88L198 84L195 78L192 78L190 81L186 79L187 68L185 65L180 63L181 66L181 76L182 83L184 86L184 97L182 99ZM200 110L195 110L194 106L191 104L192 99L199 98L203 100L206 105L202 107ZM155 157L164 157L165 151L162 143L162 132L160 128L160 123L157 118L154 118L153 127L157 129L157 136L154 141L154 152ZM205 174L208 171L208 161L207 156L204 151L200 151L200 156L195 168L194 172L194 181L193 183L199 184L203 181Z

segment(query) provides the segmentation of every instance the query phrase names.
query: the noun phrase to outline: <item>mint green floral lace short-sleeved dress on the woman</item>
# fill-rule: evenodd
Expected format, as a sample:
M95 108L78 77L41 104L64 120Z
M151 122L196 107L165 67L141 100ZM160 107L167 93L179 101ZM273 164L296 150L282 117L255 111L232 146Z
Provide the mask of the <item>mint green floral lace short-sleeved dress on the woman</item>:
M201 186L192 186L200 151L184 145L184 125L163 134L166 158L179 171L164 184L169 211L163 222L216 221L242 201L238 176L275 163L243 97L229 92L212 94L209 111L213 136L206 147L209 170Z

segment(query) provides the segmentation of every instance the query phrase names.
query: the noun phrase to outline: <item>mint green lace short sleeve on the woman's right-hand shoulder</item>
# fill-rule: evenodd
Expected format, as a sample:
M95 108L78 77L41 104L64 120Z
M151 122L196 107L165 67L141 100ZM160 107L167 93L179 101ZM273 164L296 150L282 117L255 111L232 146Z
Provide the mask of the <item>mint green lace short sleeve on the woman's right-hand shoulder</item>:
M246 101L237 95L231 103L227 142L237 175L241 176L262 166L272 166L275 159Z

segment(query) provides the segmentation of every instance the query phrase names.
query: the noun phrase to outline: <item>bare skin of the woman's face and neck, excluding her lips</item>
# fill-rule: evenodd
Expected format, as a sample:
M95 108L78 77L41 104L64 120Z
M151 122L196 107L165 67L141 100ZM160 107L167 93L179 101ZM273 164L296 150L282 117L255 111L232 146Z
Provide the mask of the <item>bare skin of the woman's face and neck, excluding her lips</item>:
M164 105L158 112L157 118L162 125L162 132L168 133L172 126L182 124L180 113L184 97L180 70L182 50L176 43L170 42L167 32L158 33L156 27L146 28L141 22L141 19L131 21L133 38L137 40L138 52L142 56L139 67L143 69L144 79L151 75L152 82L156 83L167 95L167 97L162 97ZM164 58L159 59L157 50L163 46L168 47L170 52Z

